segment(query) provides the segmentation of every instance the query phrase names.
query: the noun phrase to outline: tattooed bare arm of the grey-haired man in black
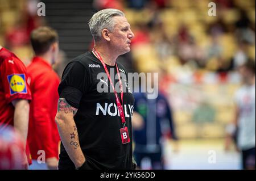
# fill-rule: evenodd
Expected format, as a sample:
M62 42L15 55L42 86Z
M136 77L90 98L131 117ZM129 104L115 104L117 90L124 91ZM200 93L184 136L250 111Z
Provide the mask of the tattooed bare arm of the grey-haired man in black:
M73 119L76 112L77 109L70 106L65 98L59 99L55 122L65 150L78 168L85 162L85 157L80 147L79 135Z

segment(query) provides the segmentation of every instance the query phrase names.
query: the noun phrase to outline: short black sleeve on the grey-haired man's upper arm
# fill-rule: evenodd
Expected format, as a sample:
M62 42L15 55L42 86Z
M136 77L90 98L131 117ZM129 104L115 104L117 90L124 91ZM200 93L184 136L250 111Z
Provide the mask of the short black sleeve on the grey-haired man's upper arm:
M87 75L86 69L80 62L69 63L58 88L60 98L65 98L72 107L78 109L82 95L89 85Z

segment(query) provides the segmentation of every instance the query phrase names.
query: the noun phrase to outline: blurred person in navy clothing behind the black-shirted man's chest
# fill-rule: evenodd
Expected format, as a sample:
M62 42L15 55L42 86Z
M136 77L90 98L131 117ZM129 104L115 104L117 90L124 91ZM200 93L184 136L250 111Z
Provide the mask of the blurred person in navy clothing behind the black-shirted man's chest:
M151 77L151 85L154 89L158 89L153 79ZM170 104L162 92L159 92L155 99L148 99L147 90L143 92L141 89L134 93L134 98L135 161L140 169L166 169L163 158L163 138L177 140Z

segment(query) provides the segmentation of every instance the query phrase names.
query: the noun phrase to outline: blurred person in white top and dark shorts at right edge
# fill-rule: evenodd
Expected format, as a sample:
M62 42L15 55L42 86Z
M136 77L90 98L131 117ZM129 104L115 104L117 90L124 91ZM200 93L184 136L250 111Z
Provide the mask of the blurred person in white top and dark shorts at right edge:
M243 85L235 95L237 144L243 169L255 169L255 62L247 61L238 71Z

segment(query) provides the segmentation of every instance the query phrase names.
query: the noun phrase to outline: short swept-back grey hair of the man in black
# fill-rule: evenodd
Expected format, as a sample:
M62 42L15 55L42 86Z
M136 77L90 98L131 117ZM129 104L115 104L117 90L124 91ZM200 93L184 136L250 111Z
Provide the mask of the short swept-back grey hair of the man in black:
M104 9L96 12L89 20L90 32L95 41L100 40L101 31L106 28L112 31L114 28L114 16L125 16L125 14L117 9Z

